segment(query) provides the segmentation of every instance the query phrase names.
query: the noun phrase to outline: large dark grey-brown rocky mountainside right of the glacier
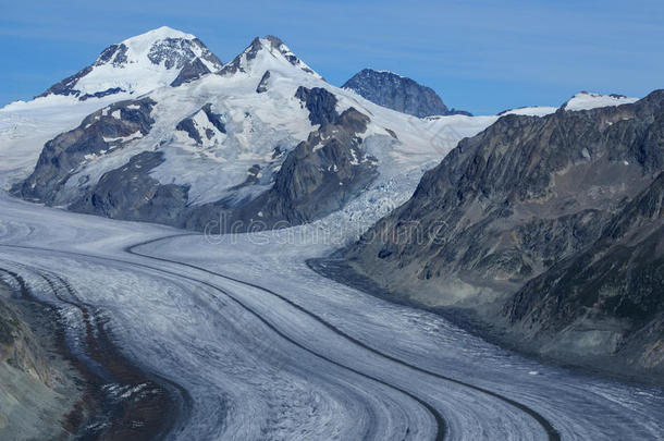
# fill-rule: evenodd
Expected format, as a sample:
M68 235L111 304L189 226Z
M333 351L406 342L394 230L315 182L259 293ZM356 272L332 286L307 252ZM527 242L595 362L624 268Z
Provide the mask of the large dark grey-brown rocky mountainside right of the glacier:
M639 226L637 234L625 222L661 225L655 177L664 169L663 146L662 90L618 107L503 117L460 142L408 203L346 255L418 302L468 307L494 323L508 317L512 326L554 330L552 338L583 307L598 317L641 320L639 311L654 314L661 305L653 272L659 233ZM598 344L604 355L616 347ZM645 354L643 346L635 351Z

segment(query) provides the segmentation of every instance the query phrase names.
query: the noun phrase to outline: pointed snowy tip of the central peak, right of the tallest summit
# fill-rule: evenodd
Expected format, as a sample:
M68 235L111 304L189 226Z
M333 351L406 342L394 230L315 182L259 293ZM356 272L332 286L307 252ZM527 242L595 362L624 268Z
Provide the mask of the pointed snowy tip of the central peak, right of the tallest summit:
M251 44L233 61L225 64L219 74L230 75L242 72L262 75L267 70L292 70L292 66L321 78L318 73L293 53L279 37L268 35L262 38L254 38Z

